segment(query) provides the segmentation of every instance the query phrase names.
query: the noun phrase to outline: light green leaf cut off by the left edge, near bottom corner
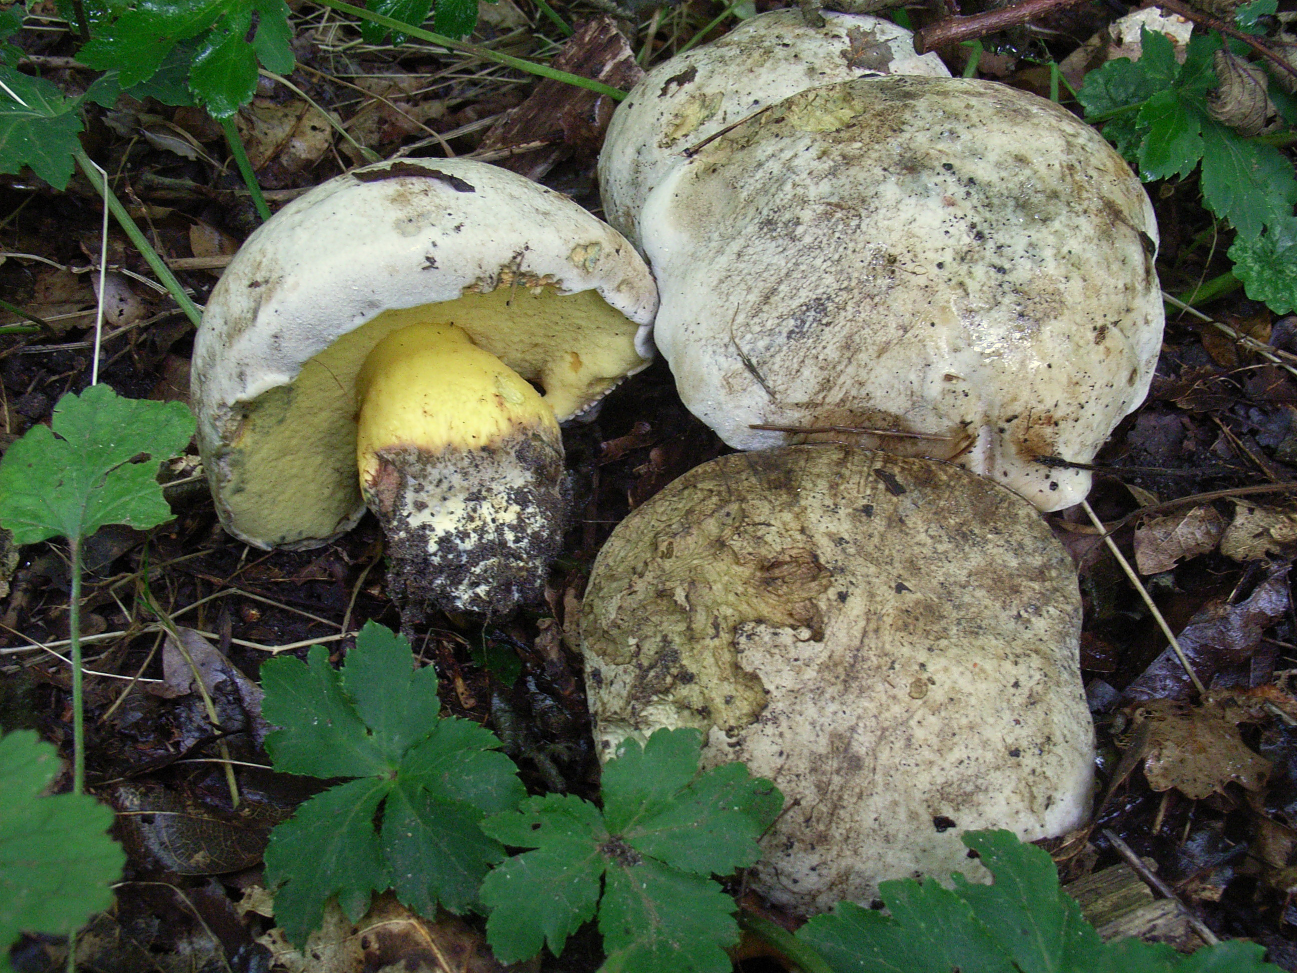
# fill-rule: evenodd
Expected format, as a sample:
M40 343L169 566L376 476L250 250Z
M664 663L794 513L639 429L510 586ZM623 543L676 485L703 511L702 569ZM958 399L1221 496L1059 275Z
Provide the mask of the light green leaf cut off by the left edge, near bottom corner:
M19 933L66 935L113 902L126 855L113 812L87 794L40 797L58 751L31 730L0 737L0 956Z

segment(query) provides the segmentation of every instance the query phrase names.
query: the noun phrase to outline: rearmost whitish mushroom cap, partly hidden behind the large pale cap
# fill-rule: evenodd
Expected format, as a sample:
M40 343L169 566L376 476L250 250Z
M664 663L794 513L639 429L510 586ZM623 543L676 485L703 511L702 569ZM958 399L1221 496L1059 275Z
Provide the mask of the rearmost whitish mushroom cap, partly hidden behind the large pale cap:
M658 65L617 105L599 153L603 213L641 246L639 210L684 152L754 112L805 88L885 74L949 77L935 53L879 17L772 10L719 40Z

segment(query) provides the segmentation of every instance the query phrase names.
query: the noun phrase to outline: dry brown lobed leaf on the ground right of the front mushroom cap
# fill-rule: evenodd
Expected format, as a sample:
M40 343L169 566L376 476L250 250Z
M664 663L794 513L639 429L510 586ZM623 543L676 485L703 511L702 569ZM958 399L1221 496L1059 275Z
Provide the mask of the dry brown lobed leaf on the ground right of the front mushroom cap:
M1189 706L1174 699L1148 699L1130 710L1132 727L1148 730L1144 776L1153 790L1175 787L1201 800L1223 794L1235 781L1248 790L1265 786L1270 762L1253 752L1237 727L1210 701Z

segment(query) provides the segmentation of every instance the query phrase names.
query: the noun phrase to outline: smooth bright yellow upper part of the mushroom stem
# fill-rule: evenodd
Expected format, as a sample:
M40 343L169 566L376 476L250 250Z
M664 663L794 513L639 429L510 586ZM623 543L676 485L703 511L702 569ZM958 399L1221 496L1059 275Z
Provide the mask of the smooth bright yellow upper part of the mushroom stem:
M383 449L436 455L490 446L521 429L560 438L541 393L454 324L393 331L364 359L355 392L362 484L372 481Z

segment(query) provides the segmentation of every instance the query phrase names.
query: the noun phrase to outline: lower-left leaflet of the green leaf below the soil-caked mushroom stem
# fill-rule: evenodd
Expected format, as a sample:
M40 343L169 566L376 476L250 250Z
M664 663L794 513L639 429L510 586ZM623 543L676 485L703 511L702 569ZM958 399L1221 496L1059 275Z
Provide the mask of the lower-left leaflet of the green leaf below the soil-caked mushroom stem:
M298 948L320 925L331 898L337 896L355 922L371 895L392 885L374 828L390 789L390 781L372 777L339 785L316 794L271 833L266 880L285 882L275 893L275 920Z

